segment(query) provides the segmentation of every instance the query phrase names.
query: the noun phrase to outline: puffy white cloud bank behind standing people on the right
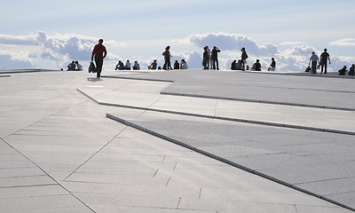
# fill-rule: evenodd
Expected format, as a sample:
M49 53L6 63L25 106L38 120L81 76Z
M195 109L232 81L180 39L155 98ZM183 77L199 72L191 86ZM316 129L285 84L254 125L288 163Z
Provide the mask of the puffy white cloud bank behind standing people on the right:
M272 43L259 44L252 38L236 34L225 33L209 33L201 35L187 36L185 39L179 41L179 43L189 43L201 49L200 55L203 52L203 47L208 45L209 48L217 46L221 53L219 54L220 64L223 68L229 68L233 59L241 59L241 47L245 47L248 52L247 63L252 66L256 59L260 59L262 68L267 70L271 64L271 58L275 58L277 62L277 70L280 71L304 71L308 66L309 59L312 55L312 51L315 51L318 55L322 52L307 44L300 42L285 42L280 45L293 45L291 48L280 51L278 46ZM338 40L331 45L352 45L355 44L355 39L343 39ZM201 68L202 57L197 57L196 52L191 53L193 57L188 63L192 63L194 67L198 65ZM189 59L189 56L186 58ZM332 66L329 69L337 70L338 67L343 67L345 64L351 64L351 61L355 61L355 58L351 57L339 57L331 55ZM222 62L222 63L221 63Z

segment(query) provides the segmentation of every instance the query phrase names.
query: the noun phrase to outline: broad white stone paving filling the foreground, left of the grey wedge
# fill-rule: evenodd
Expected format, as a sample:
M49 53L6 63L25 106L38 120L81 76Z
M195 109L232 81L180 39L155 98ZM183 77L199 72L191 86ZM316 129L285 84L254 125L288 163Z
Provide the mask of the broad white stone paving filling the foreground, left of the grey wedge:
M133 106L149 93L152 106L166 83L90 77L0 78L0 212L350 212L106 119L144 111L100 106L76 88ZM201 101L193 112L213 113L216 100Z

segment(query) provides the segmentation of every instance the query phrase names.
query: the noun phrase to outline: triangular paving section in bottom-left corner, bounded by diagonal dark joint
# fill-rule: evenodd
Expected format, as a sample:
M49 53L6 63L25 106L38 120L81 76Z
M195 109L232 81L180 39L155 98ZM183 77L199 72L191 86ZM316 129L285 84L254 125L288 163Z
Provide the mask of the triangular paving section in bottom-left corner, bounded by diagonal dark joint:
M91 212L36 164L0 139L0 212ZM20 162L20 164L19 164Z

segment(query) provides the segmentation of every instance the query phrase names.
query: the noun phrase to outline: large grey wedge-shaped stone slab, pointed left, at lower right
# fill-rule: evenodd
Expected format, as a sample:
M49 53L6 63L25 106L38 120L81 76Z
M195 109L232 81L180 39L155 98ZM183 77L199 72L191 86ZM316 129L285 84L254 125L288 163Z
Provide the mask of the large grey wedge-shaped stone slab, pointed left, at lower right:
M190 121L189 116L158 114L146 112L137 117L115 116L141 130L177 140L324 197L330 198L335 192L331 183L337 181L343 187L338 188L335 201L349 204L353 190L346 185L355 177L355 146L353 143L344 145L341 141L353 141L353 136L214 120L198 122L196 119ZM327 155L332 154L338 155L327 159ZM316 185L320 182L323 184Z

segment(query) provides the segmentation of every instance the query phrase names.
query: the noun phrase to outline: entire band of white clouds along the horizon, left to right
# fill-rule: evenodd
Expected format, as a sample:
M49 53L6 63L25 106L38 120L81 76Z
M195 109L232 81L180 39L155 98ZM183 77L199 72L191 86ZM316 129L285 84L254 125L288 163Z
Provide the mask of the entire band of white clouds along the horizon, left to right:
M93 36L83 36L76 34L59 34L48 35L46 32L37 31L34 35L29 36L7 36L0 35L0 45L3 51L0 51L0 68L57 68L67 67L71 60L79 60L85 67L85 63L91 59L92 47L98 43L99 38ZM134 46L134 42L130 42L129 47L125 47L122 41L105 41L108 46L109 54L107 55L105 67L107 69L114 69L114 65L118 59L125 61L125 59L132 59L132 57L125 56L122 48L130 48L137 50L137 54L142 52L146 56L138 56L142 68L146 68L153 59L157 59L159 66L162 66L163 59L160 55L161 51L157 51L158 55L151 55L154 43L146 43L145 48L141 48L141 43ZM190 68L202 68L202 53L203 47L208 45L210 49L217 46L221 52L218 54L219 66L221 69L229 69L233 59L241 58L241 47L245 47L248 52L248 65L260 59L262 68L265 70L271 63L271 58L275 58L277 62L277 70L280 71L304 71L308 66L309 58L312 51L316 51L319 55L321 51L312 47L311 45L298 42L280 43L280 46L288 49L280 50L276 44L272 43L257 43L254 39L248 36L226 33L209 33L209 34L195 34L186 36L183 39L172 41L171 50L174 57L172 63L177 60L185 59ZM353 46L355 39L346 38L337 40L329 45L338 46ZM174 46L179 47L179 50L190 49L191 51L177 51L174 52ZM12 51L4 51L6 48L12 47ZM13 47L21 51L13 51ZM158 47L159 48L159 47ZM33 51L36 49L36 51ZM26 50L26 51L22 51ZM117 50L122 51L122 56L114 55L112 52ZM338 70L343 65L350 65L354 63L353 57L341 57L332 55L330 51L330 58L332 65L329 68ZM121 54L121 53L120 53ZM46 65L51 67L43 67L43 61ZM104 68L105 68L104 67Z

